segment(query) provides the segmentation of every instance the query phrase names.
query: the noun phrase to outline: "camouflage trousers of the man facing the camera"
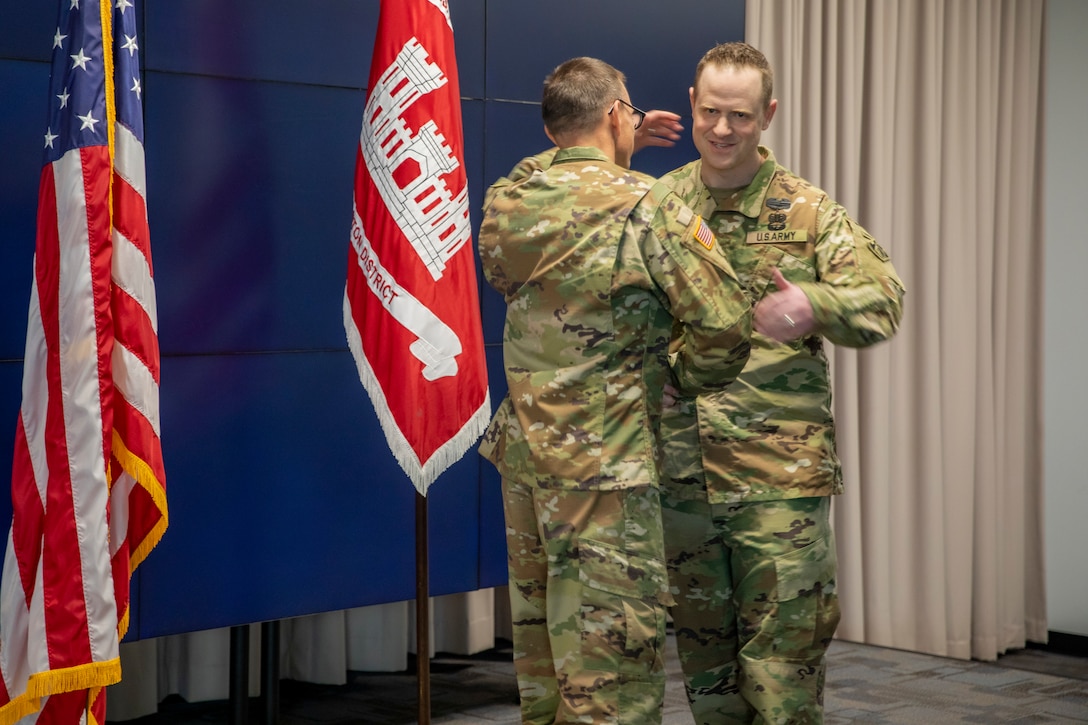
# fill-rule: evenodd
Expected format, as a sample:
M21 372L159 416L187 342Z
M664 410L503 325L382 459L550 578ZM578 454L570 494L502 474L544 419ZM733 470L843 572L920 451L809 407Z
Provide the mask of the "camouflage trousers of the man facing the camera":
M823 723L839 624L828 496L663 506L672 620L701 725Z

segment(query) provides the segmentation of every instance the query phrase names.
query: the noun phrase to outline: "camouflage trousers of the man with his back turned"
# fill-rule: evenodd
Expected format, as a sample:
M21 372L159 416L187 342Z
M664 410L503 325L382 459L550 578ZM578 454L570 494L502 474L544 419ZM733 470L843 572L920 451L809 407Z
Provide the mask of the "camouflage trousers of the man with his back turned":
M665 698L660 500L503 481L523 723L653 724Z

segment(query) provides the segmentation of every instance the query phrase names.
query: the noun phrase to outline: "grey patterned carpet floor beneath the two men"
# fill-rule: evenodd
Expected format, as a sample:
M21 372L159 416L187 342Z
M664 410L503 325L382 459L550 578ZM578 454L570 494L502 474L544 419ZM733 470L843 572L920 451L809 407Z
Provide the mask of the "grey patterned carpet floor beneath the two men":
M692 725L669 642L664 725ZM431 723L517 725L517 686L506 647L431 662ZM964 662L836 641L829 654L826 723L951 725L1088 723L1088 658L1027 649L997 663ZM251 724L261 723L255 700ZM219 725L227 702L171 699L126 725ZM407 725L418 722L419 681L405 673L350 673L332 687L284 680L279 725Z

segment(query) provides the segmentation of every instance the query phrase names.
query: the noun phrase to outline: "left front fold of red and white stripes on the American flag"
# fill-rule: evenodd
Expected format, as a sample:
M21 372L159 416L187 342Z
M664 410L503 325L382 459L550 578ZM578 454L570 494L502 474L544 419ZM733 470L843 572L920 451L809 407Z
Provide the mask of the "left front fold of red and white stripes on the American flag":
M36 710L42 696L87 687L70 684L120 679L103 515L113 419L109 179L103 147L69 151L41 173L0 586L2 721Z

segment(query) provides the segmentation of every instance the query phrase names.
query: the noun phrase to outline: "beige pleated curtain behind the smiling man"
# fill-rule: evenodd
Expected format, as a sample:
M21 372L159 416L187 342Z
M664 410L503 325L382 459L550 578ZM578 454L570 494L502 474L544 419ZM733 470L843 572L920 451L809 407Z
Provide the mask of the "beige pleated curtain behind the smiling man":
M749 0L778 159L891 253L890 343L831 353L839 637L993 660L1046 641L1044 0Z

